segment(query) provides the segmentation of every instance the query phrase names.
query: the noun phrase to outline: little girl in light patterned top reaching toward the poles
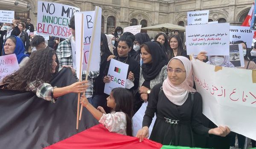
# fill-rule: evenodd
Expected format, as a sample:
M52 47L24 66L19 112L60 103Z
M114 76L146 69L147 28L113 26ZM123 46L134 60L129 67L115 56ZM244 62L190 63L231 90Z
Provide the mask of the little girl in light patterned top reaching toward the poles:
M132 101L133 95L128 89L115 88L107 98L107 106L113 111L106 114L101 106L98 106L98 110L94 108L84 95L80 99L80 103L110 132L129 136L132 136Z

